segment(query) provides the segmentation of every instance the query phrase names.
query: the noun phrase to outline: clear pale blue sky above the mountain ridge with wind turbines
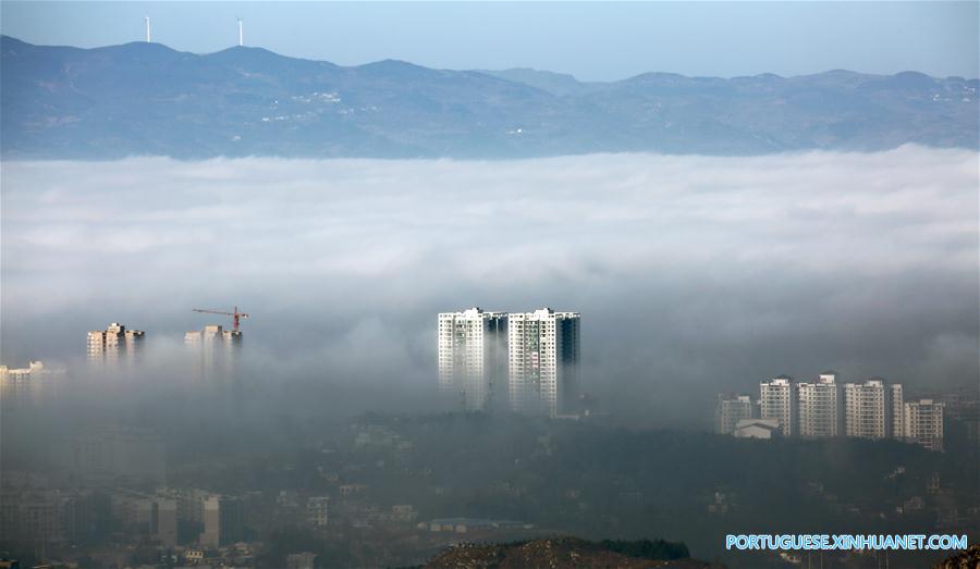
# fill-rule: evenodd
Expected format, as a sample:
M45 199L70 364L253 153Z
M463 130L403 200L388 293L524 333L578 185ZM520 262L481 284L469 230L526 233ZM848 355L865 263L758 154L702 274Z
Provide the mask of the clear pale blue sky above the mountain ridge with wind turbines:
M611 81L831 69L977 77L980 2L0 2L3 34L98 47L143 39L211 52L237 41L353 65L535 67Z

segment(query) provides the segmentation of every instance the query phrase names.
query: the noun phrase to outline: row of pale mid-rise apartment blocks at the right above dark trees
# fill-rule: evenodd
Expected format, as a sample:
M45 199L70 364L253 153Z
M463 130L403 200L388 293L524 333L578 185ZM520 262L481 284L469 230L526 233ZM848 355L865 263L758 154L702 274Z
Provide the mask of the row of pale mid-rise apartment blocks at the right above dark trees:
M902 384L881 379L842 385L834 372L798 383L780 375L759 384L758 400L719 394L715 430L752 438L897 438L942 450L944 407L933 399L906 401Z

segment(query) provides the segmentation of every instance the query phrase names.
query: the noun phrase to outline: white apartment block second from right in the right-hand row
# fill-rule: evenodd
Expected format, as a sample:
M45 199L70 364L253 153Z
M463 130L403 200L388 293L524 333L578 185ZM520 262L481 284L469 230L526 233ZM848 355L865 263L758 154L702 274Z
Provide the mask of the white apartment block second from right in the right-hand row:
M897 401L895 394L898 395ZM897 404L897 405L896 405ZM902 385L885 385L884 380L844 385L844 424L847 436L886 438L893 435L895 416L901 415ZM902 431L898 421L898 432Z

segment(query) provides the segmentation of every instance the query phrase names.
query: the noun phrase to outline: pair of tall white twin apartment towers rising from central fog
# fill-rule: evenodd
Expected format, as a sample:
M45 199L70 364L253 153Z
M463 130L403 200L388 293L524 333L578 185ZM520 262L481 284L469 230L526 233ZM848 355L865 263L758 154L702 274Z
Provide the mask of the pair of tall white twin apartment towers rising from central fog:
M469 411L543 417L580 409L579 314L542 308L439 314L439 387Z

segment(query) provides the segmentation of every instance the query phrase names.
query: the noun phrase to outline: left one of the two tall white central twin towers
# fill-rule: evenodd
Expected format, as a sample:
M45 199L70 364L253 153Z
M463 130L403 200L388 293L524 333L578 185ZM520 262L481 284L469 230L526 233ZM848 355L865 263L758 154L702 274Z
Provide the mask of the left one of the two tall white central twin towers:
M439 314L439 391L470 411L505 400L507 313L470 308Z

